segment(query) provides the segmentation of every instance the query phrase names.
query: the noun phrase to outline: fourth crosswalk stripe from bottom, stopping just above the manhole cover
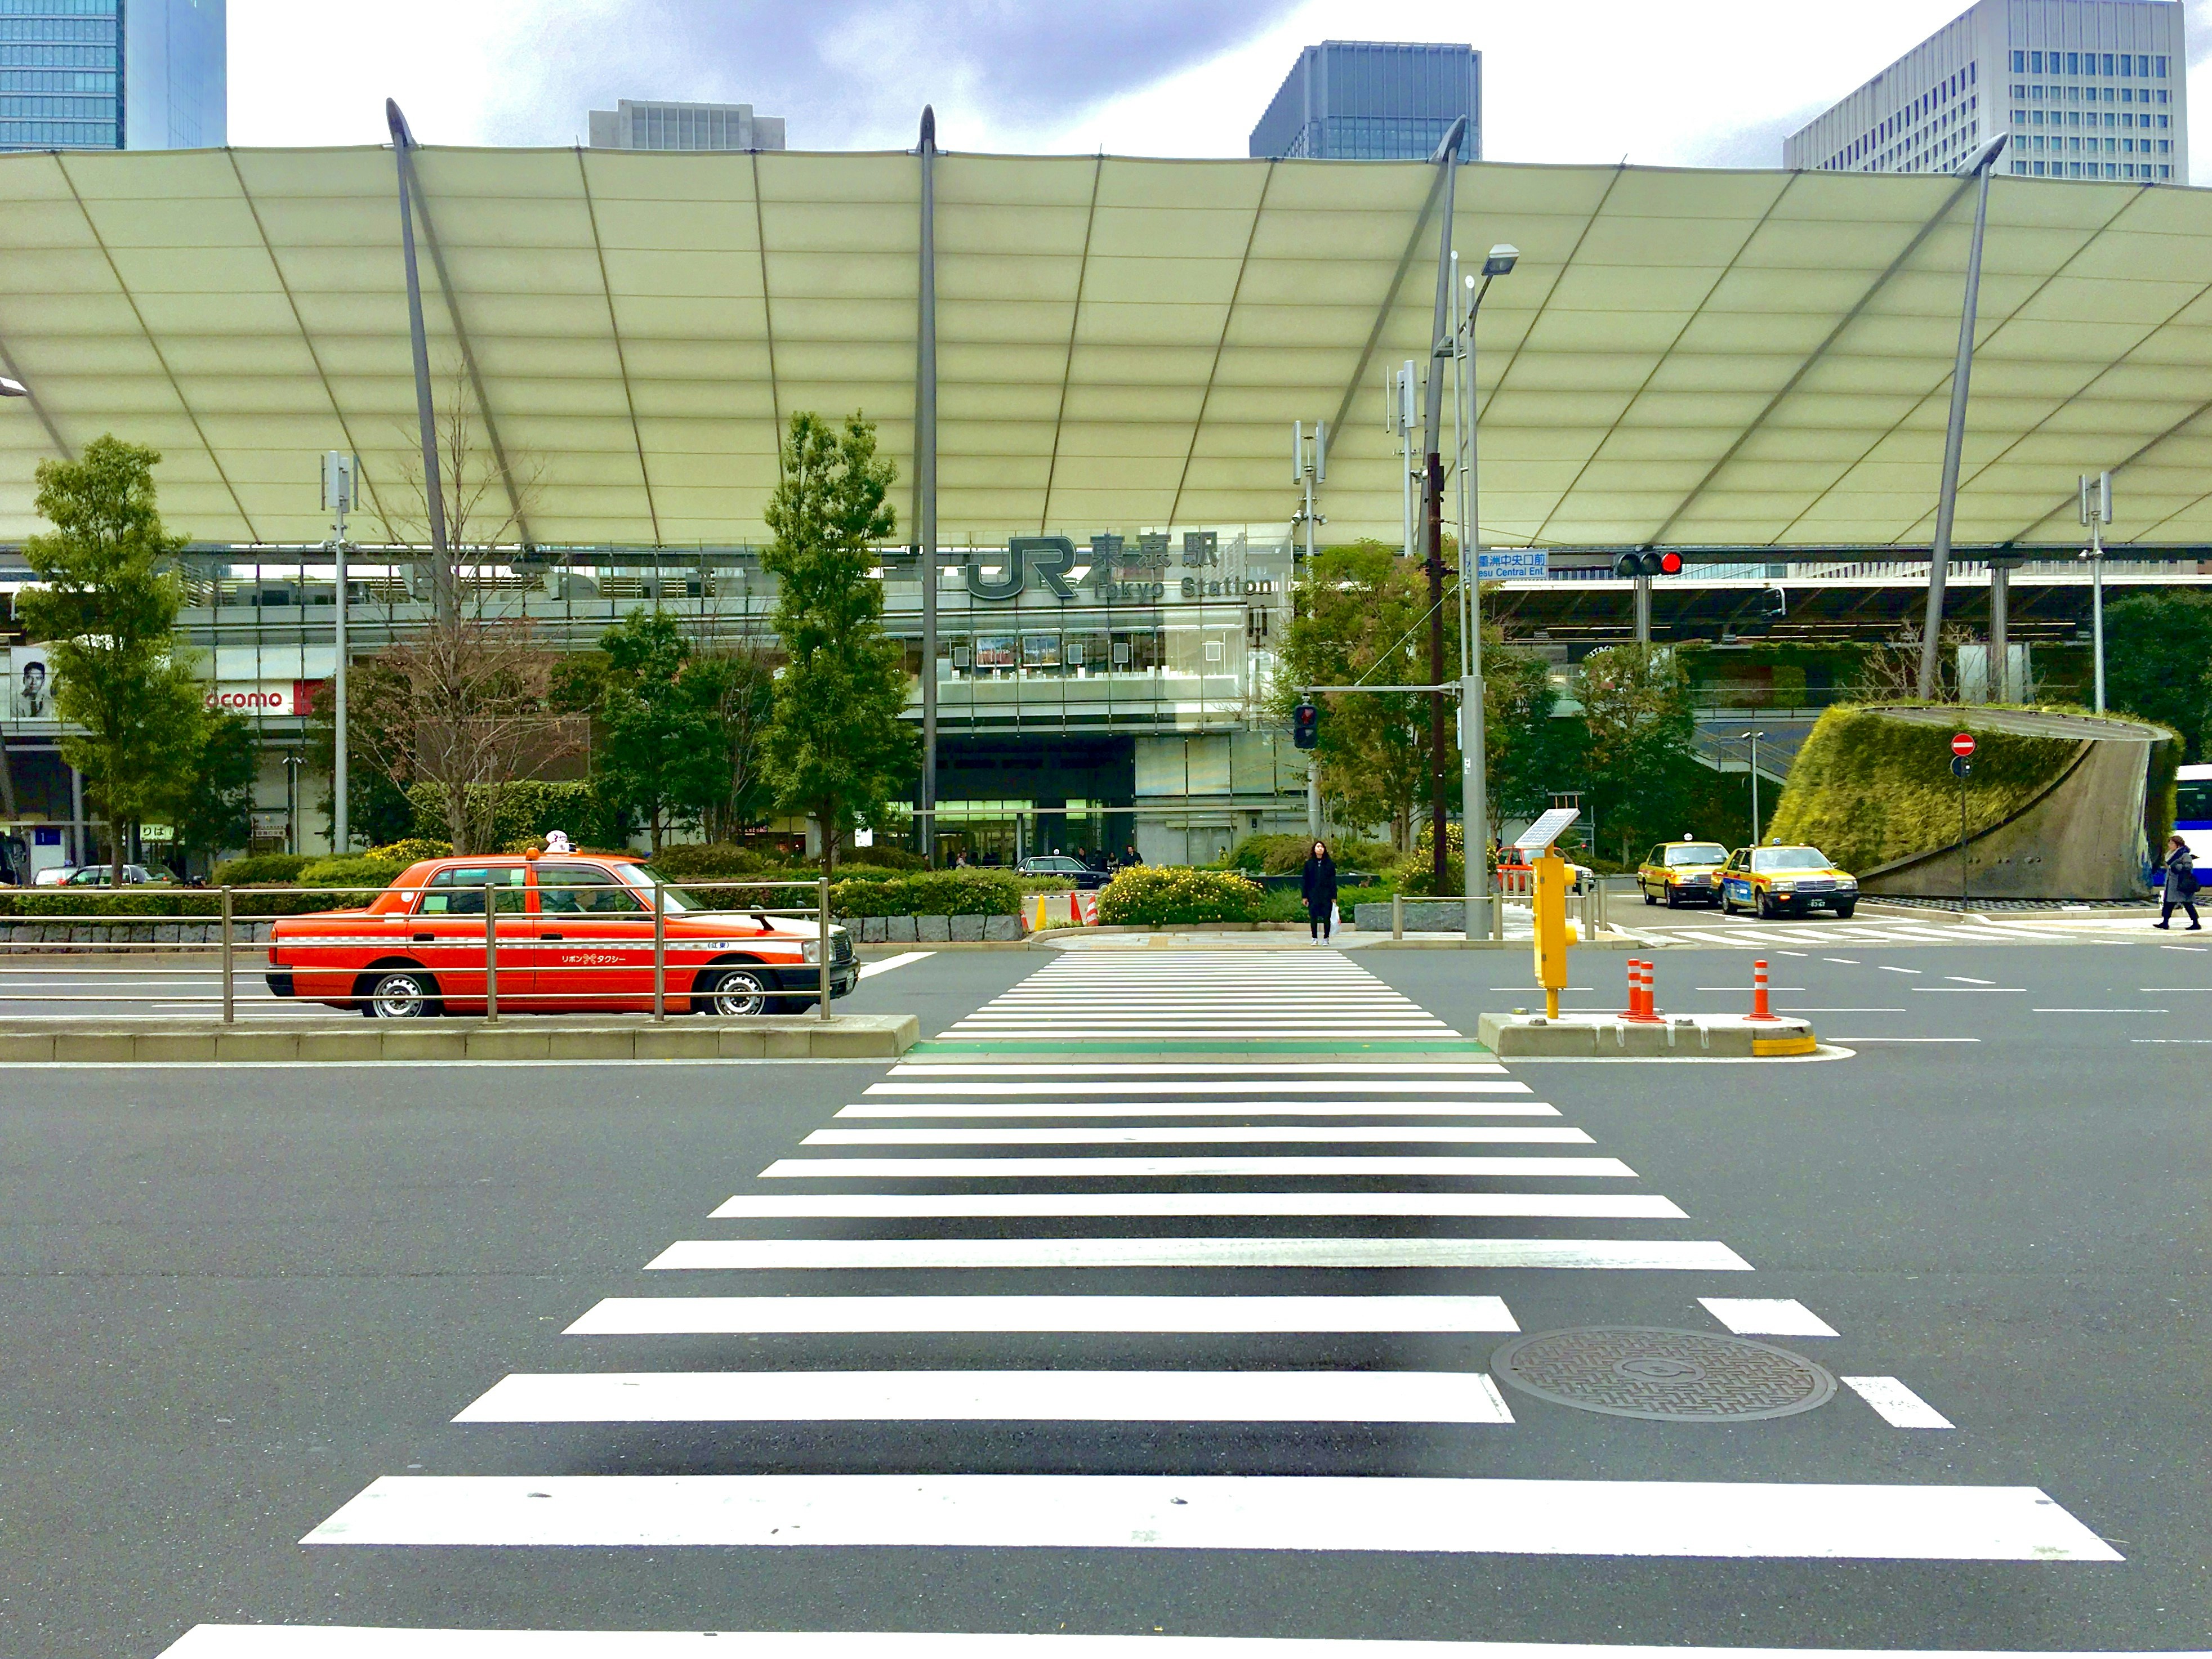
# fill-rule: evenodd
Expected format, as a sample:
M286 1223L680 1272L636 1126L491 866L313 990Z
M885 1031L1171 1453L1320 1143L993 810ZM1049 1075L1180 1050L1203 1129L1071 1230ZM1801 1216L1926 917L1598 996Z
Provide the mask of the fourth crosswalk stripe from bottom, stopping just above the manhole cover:
M564 1336L1517 1329L1500 1296L608 1296Z

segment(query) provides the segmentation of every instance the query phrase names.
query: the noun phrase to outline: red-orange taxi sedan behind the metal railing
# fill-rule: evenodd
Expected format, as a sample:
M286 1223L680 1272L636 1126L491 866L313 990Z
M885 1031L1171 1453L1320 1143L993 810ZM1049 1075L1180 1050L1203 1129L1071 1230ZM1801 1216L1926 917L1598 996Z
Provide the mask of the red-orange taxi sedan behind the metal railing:
M818 995L816 925L719 909L637 858L555 854L427 858L365 909L281 916L268 987L372 1020L482 1013L489 896L502 1013L650 1013L655 889L670 1013L743 1018ZM858 982L852 936L832 927L830 995Z

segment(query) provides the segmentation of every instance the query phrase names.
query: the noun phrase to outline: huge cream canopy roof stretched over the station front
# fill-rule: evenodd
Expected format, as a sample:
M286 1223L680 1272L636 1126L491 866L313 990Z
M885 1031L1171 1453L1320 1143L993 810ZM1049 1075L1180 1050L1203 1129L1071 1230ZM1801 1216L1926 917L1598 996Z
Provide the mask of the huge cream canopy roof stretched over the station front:
M473 405L458 319L529 535L765 540L794 409L865 411L911 480L918 168L420 150L438 396ZM1378 387L1429 343L1431 179L940 157L945 542L1283 524L1290 422L1340 411L1329 540L1396 540ZM1522 250L1480 325L1484 540L1924 544L1971 206L1951 177L1462 168L1455 246ZM325 449L409 515L392 150L9 155L0 210L35 392L0 405L0 538L38 529L33 465L102 431L164 451L197 540L327 538ZM1958 540L2070 542L2106 467L2117 540L2212 540L2208 321L2212 195L1997 179Z

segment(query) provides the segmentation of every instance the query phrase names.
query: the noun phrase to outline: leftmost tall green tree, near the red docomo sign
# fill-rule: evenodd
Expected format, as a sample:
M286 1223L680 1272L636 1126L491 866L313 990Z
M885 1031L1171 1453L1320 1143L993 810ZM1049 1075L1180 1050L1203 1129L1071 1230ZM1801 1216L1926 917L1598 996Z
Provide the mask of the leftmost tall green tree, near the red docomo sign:
M40 577L15 599L33 639L51 644L55 712L80 728L62 759L84 774L108 821L122 885L128 830L190 792L208 741L206 686L177 639L175 557L144 445L100 436L80 460L38 465L38 511L53 535L24 542Z

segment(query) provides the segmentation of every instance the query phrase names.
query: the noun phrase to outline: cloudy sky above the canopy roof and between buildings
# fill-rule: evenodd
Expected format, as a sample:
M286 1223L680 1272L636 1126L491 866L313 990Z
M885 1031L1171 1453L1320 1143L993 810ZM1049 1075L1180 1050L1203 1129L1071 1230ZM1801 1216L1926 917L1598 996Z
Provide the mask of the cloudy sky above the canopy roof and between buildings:
M2188 0L2212 97L2212 0ZM1243 155L1298 46L1464 40L1495 161L1778 166L1964 0L230 0L232 144L575 144L617 97L752 104L792 148ZM1845 24L1843 18L1849 15ZM2212 119L2192 173L2212 179Z

